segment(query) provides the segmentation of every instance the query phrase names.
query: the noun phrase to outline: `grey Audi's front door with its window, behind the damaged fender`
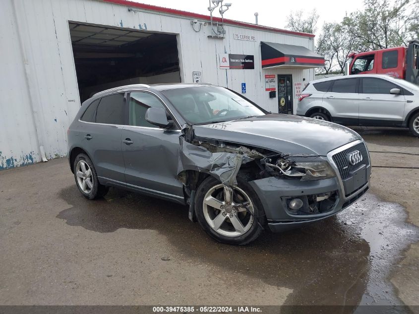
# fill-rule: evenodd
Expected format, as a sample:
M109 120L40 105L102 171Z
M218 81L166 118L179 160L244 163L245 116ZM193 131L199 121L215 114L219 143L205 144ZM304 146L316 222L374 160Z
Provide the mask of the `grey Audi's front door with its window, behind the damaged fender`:
M183 200L183 187L177 179L180 130L149 124L145 113L150 107L166 109L153 93L138 91L127 96L129 118L122 130L127 188Z

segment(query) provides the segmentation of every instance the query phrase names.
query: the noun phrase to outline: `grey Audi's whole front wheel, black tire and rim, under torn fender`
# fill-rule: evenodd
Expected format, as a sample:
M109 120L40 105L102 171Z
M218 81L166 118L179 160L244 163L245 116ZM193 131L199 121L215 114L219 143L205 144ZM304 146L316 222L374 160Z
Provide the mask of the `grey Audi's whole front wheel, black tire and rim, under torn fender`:
M237 180L237 187L227 187L213 177L206 178L196 191L195 213L202 229L215 240L245 245L259 236L265 217L253 189L239 177Z

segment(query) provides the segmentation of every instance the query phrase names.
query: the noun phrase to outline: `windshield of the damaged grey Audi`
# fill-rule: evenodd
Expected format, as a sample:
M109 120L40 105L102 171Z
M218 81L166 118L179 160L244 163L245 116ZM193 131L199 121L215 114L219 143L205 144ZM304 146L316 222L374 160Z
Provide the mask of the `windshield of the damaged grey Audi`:
M163 90L162 93L188 123L208 124L265 113L248 100L218 86L196 86Z

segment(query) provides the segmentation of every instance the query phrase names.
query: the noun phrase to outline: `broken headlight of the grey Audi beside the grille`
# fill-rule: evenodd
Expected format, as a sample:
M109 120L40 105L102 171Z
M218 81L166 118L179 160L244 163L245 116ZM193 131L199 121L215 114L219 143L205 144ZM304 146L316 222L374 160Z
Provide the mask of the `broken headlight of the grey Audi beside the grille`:
M301 178L301 181L336 177L335 171L327 161L291 162L281 158L275 165L269 162L266 165L279 170L286 177Z

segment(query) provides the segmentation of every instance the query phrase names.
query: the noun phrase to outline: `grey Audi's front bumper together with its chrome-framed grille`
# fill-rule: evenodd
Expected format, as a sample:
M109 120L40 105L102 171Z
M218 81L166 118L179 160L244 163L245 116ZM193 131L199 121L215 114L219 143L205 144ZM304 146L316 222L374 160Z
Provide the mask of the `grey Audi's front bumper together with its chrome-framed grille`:
M352 164L350 157L354 152L360 158ZM327 156L307 156L301 162L302 158L289 156L287 161L294 163L291 168L284 165L283 160L268 162L268 169L269 167L275 169L276 167L272 167L275 165L282 168L278 169L281 173L297 175L296 172L299 172L299 177L296 176L295 179L285 178L284 175L249 182L262 201L268 225L272 231L285 231L335 215L358 200L368 190L371 164L368 151L361 140L335 149ZM320 169L320 173L325 172L322 174L325 179L310 180L313 179L311 175L316 170L312 167L309 167L311 169L309 169L308 178L301 176L301 168L298 166L301 166L301 163L307 165L315 161L318 165L328 165ZM330 170L327 167L332 168L334 176L328 175ZM317 170L319 168L321 167L317 167Z

